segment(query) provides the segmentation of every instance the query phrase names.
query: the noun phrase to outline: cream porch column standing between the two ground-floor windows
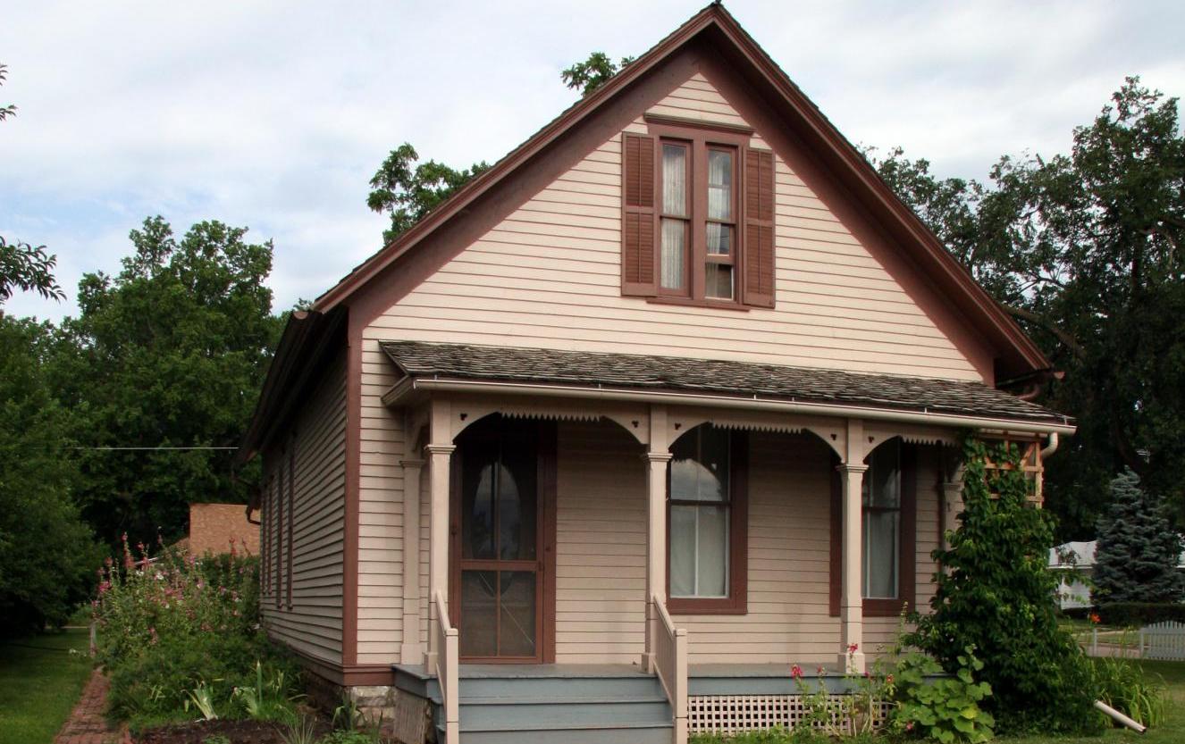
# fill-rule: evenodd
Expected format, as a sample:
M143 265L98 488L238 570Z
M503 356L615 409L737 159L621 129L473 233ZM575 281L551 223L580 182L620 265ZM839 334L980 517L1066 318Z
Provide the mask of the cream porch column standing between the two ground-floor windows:
M844 560L841 572L841 592L839 605L840 639L843 648L839 652L841 668L861 674L864 663L864 596L863 596L863 550L860 534L861 498L860 487L864 473L869 469L863 462L845 462L837 467L840 476L840 494L843 498L843 540ZM852 647L856 650L848 650Z

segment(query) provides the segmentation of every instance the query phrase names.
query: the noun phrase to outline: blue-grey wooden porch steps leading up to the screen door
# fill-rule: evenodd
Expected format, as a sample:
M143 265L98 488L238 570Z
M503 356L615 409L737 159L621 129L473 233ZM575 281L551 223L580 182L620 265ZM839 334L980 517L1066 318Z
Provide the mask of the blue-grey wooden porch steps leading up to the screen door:
M398 668L397 668L398 671ZM440 686L424 680L437 742L446 743ZM671 706L636 667L463 665L463 744L668 744Z

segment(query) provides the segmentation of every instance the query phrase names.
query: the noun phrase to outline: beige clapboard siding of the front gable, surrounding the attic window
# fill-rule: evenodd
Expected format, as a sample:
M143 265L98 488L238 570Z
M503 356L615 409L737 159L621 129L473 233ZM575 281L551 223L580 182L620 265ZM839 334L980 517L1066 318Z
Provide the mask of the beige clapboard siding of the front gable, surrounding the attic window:
M700 75L651 111L744 123ZM646 127L639 118L627 130ZM754 146L764 145L755 136ZM364 331L364 383L379 385L376 341L384 339L981 379L876 251L781 158L775 161L776 309L738 313L621 296L615 135L376 319Z

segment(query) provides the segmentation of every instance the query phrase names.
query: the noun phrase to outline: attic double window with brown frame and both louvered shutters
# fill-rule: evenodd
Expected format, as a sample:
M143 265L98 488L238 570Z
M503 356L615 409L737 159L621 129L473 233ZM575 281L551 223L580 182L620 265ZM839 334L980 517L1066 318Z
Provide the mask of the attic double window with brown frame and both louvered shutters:
M622 135L623 295L774 307L774 155L749 141L655 123Z

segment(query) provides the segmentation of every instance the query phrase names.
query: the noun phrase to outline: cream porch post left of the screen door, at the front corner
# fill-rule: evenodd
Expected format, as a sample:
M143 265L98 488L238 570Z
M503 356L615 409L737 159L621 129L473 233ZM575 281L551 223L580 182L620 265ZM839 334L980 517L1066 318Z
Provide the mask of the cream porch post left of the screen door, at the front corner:
M449 475L451 470L453 444L450 426L450 406L448 400L431 402L429 442L424 447L428 453L428 477L431 488L431 512L429 513L428 533L428 654L424 667L429 673L436 671L436 656L443 649L436 648L435 627L441 610L448 612L448 520L449 520ZM436 596L443 598L444 607L436 607ZM451 622L451 617L449 621Z

